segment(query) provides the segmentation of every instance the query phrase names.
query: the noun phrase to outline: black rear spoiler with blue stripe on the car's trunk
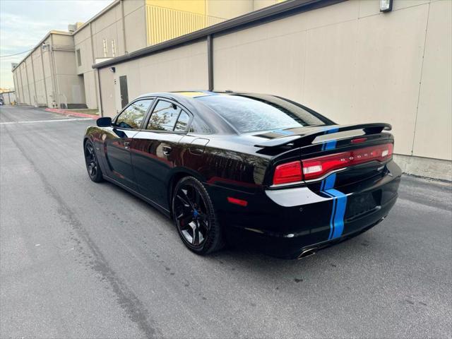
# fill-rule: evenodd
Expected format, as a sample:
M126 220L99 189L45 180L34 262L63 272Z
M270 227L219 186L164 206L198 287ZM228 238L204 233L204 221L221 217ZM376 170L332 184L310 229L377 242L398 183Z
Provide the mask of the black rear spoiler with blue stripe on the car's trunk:
M333 134L343 131L353 131L361 129L366 135L381 133L381 131L391 131L392 126L385 123L375 124L356 124L356 125L328 125L319 127L307 127L305 133L299 133L295 135L285 135L278 138L261 141L254 146L260 148L273 148L287 145L294 141L303 141L305 145L312 143L317 136L323 136L325 134ZM332 135L333 137L333 135Z

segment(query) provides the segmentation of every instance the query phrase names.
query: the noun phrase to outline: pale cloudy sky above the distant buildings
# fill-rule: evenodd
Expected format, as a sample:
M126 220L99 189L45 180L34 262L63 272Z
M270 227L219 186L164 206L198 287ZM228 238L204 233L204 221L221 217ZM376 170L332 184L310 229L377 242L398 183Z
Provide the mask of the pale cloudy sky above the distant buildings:
M86 22L113 0L0 0L0 88L13 88L11 63L28 53L49 30Z

